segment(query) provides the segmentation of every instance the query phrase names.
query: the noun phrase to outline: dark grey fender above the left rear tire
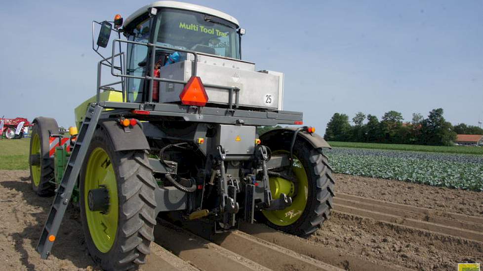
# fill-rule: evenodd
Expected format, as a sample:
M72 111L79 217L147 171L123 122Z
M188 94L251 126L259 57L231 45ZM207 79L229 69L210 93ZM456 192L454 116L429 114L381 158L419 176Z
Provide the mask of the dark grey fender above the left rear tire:
M136 124L129 128L129 133L115 120L100 121L99 125L105 129L111 137L115 151L149 150L149 143L143 130Z

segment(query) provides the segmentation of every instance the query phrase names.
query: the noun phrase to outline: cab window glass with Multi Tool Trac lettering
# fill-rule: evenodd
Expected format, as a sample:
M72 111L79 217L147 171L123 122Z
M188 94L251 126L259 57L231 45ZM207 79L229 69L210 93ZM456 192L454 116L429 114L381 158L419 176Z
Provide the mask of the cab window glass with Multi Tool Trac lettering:
M157 44L240 59L237 26L218 17L179 9L159 12Z

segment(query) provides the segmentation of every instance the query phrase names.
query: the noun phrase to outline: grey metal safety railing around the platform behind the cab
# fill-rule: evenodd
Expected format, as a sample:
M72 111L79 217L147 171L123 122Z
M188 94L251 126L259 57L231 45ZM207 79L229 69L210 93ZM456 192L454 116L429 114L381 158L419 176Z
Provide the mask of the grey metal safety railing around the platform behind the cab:
M127 44L130 43L130 44L136 44L136 45L151 47L152 50L151 50L151 56L150 56L151 57L150 68L149 68L149 72L147 72L147 74L145 76L128 75L127 72L124 73L122 70L121 70L121 73L116 73L114 71L115 70L115 66L114 66L115 57L123 54L122 52L119 53L119 54L116 54L116 52L115 52L116 42L119 42L120 47L121 47L122 42L127 43ZM194 56L194 61L193 61L194 63L193 63L193 66L192 66L192 76L197 76L197 68L198 68L198 53L197 52L192 51L192 50L178 49L178 48L175 49L175 48L172 48L172 47L162 46L162 45L158 45L158 44L154 44L154 43L144 43L144 42L138 42L138 41L132 41L132 40L125 40L125 39L115 39L115 40L113 40L113 44L112 44L112 55L111 55L111 57L104 59L104 61L107 61L107 60L112 61L112 64L110 65L110 67L111 67L111 74L113 76L123 77L123 78L135 78L135 79L149 80L148 102L150 102L150 103L153 102L154 81L168 82L168 83L174 83L174 84L183 84L183 85L186 85L188 83L188 81L173 80L173 79L169 79L169 78L160 78L160 77L154 76L154 70L155 70L155 64L156 64L156 49L157 48L164 49L164 50L167 50L167 51L172 51L172 52L177 51L177 52L184 52L184 53L192 54ZM107 65L107 66L109 66L109 65ZM123 81L123 80L121 80L121 81ZM239 99L239 96L240 96L240 88L239 87L237 87L237 86L222 86L222 85L215 85L215 84L204 84L204 83L203 83L203 86L206 87L206 88L216 88L216 89L227 90L229 92L229 94L228 94L229 95L229 98L228 98L229 108L233 109L233 106L235 106L235 107L238 106L238 103L239 103L239 100L240 100ZM123 88L123 94L122 94L123 97L125 96L124 89L125 88ZM99 93L99 89L98 89L98 93ZM233 102L233 93L235 93L235 102Z

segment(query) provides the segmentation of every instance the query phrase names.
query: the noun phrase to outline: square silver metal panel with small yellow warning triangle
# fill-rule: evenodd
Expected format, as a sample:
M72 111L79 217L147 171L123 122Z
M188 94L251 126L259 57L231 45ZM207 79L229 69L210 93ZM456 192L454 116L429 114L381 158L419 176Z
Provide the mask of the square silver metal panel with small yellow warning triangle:
M216 144L225 148L228 155L247 155L255 151L255 126L220 124Z

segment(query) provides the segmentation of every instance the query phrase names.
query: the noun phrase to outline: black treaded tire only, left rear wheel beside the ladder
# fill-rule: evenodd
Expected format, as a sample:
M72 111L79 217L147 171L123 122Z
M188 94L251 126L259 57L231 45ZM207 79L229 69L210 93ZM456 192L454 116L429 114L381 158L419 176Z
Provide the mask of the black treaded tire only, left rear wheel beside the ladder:
M102 148L109 156L118 188L119 220L114 244L99 251L92 240L85 214L84 183L92 151ZM115 152L109 135L99 128L91 140L80 174L80 217L92 259L104 270L132 270L145 263L154 240L156 182L146 150Z

